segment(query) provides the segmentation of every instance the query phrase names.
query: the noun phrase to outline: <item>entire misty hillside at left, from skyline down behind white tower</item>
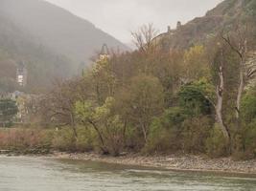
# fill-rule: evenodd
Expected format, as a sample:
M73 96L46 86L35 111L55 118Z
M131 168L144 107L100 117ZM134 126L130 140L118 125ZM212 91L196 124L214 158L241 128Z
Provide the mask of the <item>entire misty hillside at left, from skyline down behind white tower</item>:
M0 0L0 92L16 89L17 63L28 68L29 92L79 73L106 43L127 47L86 20L41 0Z

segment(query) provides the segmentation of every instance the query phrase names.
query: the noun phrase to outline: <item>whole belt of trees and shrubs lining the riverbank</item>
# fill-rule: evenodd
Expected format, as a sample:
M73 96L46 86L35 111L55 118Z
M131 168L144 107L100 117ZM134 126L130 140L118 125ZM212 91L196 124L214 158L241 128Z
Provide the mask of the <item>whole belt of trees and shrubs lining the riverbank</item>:
M56 82L36 110L44 128L1 131L0 148L256 158L256 32L245 16L186 50L142 27L136 51Z

